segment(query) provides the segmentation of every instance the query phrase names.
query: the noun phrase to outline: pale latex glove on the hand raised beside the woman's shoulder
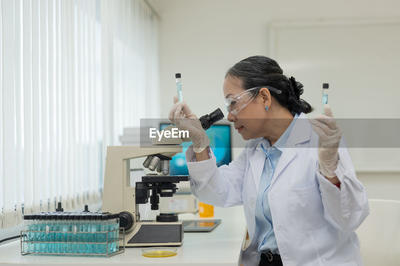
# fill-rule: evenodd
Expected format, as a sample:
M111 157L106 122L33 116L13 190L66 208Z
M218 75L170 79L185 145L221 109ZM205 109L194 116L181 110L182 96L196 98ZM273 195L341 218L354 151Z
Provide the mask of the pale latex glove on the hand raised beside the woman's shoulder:
M336 177L335 170L338 166L338 148L342 138L342 130L333 118L332 110L328 104L324 105L325 115L318 114L310 119L312 128L320 136L318 141L318 161L320 171L326 177Z

